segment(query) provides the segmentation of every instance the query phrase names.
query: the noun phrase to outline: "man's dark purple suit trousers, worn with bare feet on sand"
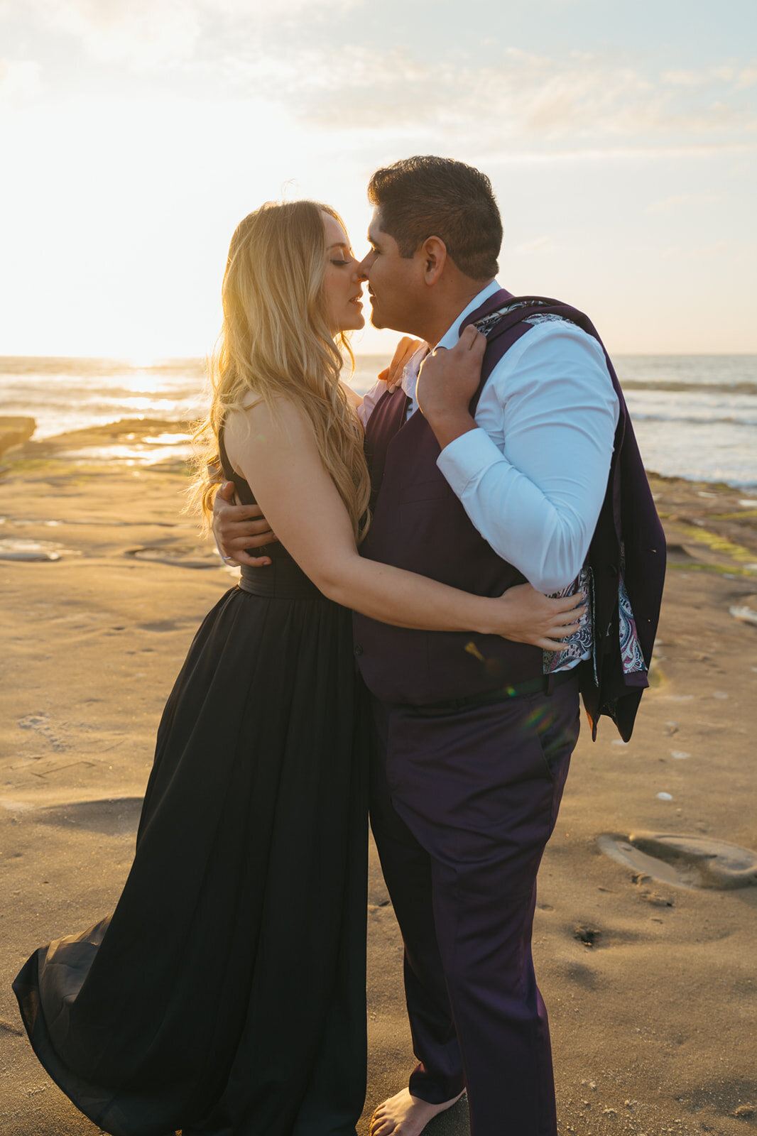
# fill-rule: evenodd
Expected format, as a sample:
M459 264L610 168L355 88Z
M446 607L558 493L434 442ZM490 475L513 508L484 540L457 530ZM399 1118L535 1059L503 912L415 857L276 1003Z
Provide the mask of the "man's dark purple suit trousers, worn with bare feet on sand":
M405 941L414 1096L473 1136L556 1136L531 932L579 737L577 682L464 710L373 700L371 824Z

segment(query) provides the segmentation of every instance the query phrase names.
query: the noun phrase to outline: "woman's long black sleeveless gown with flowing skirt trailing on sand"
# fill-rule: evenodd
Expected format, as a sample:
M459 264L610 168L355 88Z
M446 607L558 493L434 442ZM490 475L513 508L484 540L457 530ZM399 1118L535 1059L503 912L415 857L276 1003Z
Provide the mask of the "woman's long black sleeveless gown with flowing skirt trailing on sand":
M115 912L14 983L40 1061L114 1136L351 1136L363 1108L350 612L281 545L266 552L176 679Z

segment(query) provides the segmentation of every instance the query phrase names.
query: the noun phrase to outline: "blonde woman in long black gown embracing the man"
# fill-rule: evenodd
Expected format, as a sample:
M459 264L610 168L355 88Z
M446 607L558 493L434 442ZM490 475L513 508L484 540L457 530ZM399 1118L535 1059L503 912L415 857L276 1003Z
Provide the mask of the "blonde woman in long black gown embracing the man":
M348 607L552 648L581 615L359 557L369 482L334 341L363 326L359 294L326 207L264 206L234 233L198 494L207 516L221 466L281 544L190 648L113 917L15 983L40 1060L114 1136L355 1131L366 808Z

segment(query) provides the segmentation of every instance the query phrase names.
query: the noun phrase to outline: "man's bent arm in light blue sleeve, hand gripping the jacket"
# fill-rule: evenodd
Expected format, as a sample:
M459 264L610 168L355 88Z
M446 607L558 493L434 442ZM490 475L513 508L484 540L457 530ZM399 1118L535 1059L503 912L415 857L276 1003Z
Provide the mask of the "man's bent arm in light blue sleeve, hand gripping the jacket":
M418 381L439 468L494 551L556 592L583 565L607 486L618 407L601 348L571 325L538 324L494 368L475 421L455 350L426 360Z

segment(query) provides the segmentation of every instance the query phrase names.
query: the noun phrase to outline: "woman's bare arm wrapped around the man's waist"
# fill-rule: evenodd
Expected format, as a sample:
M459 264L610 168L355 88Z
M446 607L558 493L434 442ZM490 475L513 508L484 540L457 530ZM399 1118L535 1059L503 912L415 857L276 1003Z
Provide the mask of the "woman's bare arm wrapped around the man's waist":
M574 599L547 600L525 585L501 599L471 595L360 557L309 424L293 403L280 401L275 415L263 403L233 414L224 437L271 528L328 599L399 627L497 634L550 650L575 629L583 609Z

